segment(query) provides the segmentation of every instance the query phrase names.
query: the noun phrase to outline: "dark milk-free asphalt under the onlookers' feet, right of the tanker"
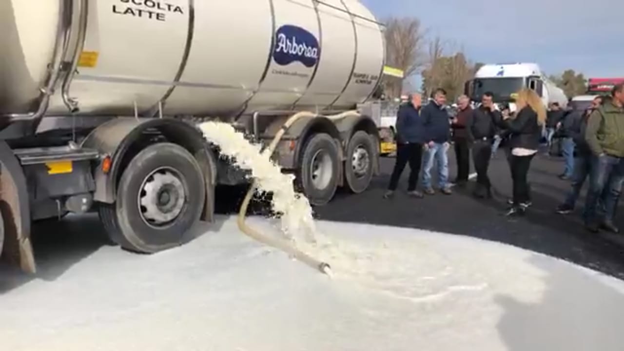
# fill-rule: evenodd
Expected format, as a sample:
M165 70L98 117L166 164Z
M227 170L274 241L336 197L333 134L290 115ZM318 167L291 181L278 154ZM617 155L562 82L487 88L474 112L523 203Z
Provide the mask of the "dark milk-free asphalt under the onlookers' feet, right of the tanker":
M540 153L529 172L533 205L523 218L509 219L503 215L512 194L511 176L504 152L499 151L489 169L494 199L475 199L470 194L474 182L454 194L412 199L404 194L408 168L402 175L399 192L392 200L383 199L394 159L381 161L381 175L363 194L339 194L329 205L316 209L321 219L395 225L467 235L515 245L542 254L568 260L608 275L624 279L624 234L592 234L584 229L580 210L560 215L554 212L570 189L570 182L558 179L563 160ZM472 164L470 165L472 169ZM473 171L471 171L473 172ZM449 151L449 178L456 175L454 152ZM621 211L622 209L620 209ZM615 224L624 229L624 217ZM383 233L379 233L383 235Z

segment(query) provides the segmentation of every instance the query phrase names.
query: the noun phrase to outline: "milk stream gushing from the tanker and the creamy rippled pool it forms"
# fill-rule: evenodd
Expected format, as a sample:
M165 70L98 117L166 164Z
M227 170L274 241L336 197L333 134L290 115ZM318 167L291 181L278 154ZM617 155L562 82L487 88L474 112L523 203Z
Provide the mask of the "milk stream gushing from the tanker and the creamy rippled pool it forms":
M336 279L414 301L437 299L457 290L481 290L480 277L456 271L454 264L417 239L357 242L319 233L312 208L303 194L293 189L294 176L282 174L261 146L251 144L230 124L199 125L208 141L220 147L222 156L241 169L251 171L260 192L272 192L271 207L280 215L281 231L292 245L316 259L328 262ZM379 232L379 238L384 233Z

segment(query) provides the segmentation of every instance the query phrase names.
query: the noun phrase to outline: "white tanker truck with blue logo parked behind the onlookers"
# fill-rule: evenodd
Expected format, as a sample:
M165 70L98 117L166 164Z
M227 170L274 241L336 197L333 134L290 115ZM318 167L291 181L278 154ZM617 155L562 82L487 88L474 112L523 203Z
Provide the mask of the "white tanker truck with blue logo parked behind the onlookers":
M525 87L537 92L545 107L552 102L558 102L561 107L568 104L565 92L550 81L535 63L485 64L477 70L473 79L466 82L464 91L475 102L481 100L484 92L492 92L494 102L509 103L510 109L515 111L512 95Z

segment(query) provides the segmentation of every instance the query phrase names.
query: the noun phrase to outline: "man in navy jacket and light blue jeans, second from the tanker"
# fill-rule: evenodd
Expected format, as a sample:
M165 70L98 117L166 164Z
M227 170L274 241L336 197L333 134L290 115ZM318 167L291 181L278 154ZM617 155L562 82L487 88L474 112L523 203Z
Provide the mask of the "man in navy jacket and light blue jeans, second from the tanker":
M424 167L422 169L422 187L427 195L436 192L431 185L431 169L434 162L437 164L438 185L442 194L450 195L449 186L449 139L451 138L451 120L444 109L446 104L446 91L438 88L433 94L433 99L427 106L422 108L422 117L425 121L426 144L424 146Z

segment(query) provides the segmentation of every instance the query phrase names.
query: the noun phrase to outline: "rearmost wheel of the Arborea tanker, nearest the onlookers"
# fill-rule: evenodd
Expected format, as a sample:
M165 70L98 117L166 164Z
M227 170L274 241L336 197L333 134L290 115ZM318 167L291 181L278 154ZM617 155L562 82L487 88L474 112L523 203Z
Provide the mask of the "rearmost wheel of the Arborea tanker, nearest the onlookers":
M344 179L349 189L359 194L368 189L373 179L373 139L364 131L357 131L349 140L344 161Z

